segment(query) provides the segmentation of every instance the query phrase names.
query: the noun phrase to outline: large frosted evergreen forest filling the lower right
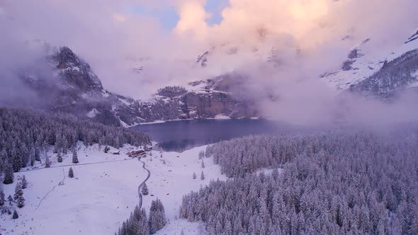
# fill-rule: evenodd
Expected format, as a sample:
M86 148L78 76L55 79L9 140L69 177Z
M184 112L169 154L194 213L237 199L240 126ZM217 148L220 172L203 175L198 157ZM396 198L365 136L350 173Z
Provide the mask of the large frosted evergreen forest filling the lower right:
M416 133L214 144L214 161L239 177L183 196L181 217L205 222L208 234L418 234ZM268 166L271 174L252 174Z

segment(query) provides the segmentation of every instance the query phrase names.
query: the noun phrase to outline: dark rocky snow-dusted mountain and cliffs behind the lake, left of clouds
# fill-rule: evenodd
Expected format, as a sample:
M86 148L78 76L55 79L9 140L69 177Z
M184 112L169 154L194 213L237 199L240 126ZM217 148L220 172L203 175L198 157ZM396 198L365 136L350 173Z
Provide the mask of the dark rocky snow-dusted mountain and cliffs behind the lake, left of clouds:
M47 45L34 44L40 48ZM182 93L176 87L161 88L147 101L120 96L103 88L90 65L69 47L47 48L47 56L40 62L45 69L27 68L18 74L24 86L37 95L36 101L29 103L31 108L72 113L106 125L125 127L157 120L255 115L255 111L250 113L242 108L247 104L235 101L225 89L212 88L214 82L205 88L190 85L192 89Z

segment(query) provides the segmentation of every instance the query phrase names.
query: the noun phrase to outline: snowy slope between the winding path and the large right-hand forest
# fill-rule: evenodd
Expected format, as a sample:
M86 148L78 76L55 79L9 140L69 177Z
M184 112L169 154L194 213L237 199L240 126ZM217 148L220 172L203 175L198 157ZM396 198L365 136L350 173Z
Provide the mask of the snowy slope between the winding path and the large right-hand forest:
M204 150L203 147L196 147L182 153L165 152L160 158L158 151L152 151L153 156L145 160L147 168L151 171L151 178L147 181L149 195L144 198L144 207L149 211L151 201L159 197L164 203L166 227L158 231L157 234L180 234L184 229L184 234L198 234L197 223L189 223L184 219L178 219L181 206L181 198L191 190L199 190L200 187L208 185L210 180L225 180L226 176L221 175L220 167L213 164L212 158L205 158L205 168L200 168L198 153ZM179 156L179 157L177 157ZM151 160L152 159L152 160ZM166 164L162 163L166 161ZM205 180L200 180L200 173L203 171ZM193 172L197 178L193 180ZM151 195L154 195L152 197Z

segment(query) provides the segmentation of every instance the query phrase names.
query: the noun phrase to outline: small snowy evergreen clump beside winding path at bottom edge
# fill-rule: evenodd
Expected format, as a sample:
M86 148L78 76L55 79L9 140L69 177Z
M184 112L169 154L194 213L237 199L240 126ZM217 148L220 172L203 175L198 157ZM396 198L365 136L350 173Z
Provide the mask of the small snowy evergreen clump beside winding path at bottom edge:
M130 214L129 219L123 222L122 227L118 231L118 235L148 235L154 234L162 229L166 224L164 205L161 200L153 200L149 208L149 220L147 220L147 212L136 206Z

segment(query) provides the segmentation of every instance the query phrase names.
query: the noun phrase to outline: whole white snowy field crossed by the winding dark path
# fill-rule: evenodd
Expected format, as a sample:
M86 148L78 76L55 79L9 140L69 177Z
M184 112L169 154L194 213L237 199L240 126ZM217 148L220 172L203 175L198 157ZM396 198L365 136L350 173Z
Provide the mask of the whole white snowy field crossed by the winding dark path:
M97 145L86 148L79 144L79 164L72 166L74 178L68 178L69 166L65 166L72 164L71 153L62 163L50 153L51 168L39 164L35 171L15 173L14 183L3 185L4 193L13 196L17 179L25 175L26 205L17 210L18 219L11 219L9 214L0 216L0 234L114 234L137 205L137 187L147 176L140 161L126 155L129 149L125 146L120 155L113 155L105 154ZM166 227L157 234L180 234L181 229L184 234L198 234L198 223L178 219L181 198L212 179L225 180L212 159L204 159L205 168L201 168L198 152L203 149L164 152L162 157L159 151L152 151L152 156L142 158L151 171L149 195L143 196L143 206L148 213L151 201L159 197L166 210ZM205 180L200 180L201 171ZM194 180L193 172L197 176Z

